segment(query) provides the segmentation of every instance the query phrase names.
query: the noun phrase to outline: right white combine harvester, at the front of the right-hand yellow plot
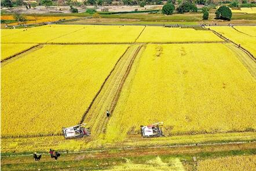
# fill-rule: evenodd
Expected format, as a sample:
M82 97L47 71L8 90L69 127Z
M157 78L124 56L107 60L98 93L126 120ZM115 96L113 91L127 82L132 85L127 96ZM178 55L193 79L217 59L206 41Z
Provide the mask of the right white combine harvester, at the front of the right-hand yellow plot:
M163 122L158 122L158 123L147 125L147 126L141 126L141 136L142 137L164 136L162 129L159 128L160 125L163 125Z

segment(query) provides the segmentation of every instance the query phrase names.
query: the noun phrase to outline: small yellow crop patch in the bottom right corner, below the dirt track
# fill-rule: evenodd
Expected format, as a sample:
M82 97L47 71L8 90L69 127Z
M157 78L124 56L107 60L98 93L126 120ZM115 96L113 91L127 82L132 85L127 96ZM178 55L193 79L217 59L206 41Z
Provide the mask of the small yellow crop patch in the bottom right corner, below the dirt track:
M198 162L198 171L211 170L255 171L256 155L221 157Z

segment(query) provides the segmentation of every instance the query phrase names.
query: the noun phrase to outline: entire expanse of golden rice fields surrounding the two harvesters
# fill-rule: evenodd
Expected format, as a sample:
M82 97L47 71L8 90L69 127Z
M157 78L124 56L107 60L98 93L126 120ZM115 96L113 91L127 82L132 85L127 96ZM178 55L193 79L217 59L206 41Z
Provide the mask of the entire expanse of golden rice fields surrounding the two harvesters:
M231 27L210 28L256 56L255 27L235 27L247 35ZM26 136L40 137L42 148L23 149L45 150L50 145L43 145L43 139L49 139L42 136L60 135L62 127L78 124L99 90L103 92L83 120L89 122L94 135L86 139L88 142L65 142L58 148L114 147L114 142L143 146L255 139L254 63L248 69L239 60L243 51L212 31L45 25L1 29L1 41L1 60L39 44L1 63L5 150L13 147L21 151L19 141L27 146L34 140ZM110 118L105 117L108 107L114 109ZM167 137L138 140L140 125L159 121L164 122ZM199 135L189 137L193 134ZM10 142L8 137L23 139Z

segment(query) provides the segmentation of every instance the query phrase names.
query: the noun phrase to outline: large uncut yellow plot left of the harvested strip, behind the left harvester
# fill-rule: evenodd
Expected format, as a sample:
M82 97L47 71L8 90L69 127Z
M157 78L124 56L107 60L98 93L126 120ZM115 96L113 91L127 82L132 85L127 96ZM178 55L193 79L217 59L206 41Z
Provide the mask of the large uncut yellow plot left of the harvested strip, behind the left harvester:
M126 49L47 45L3 65L1 136L55 135L77 124Z

